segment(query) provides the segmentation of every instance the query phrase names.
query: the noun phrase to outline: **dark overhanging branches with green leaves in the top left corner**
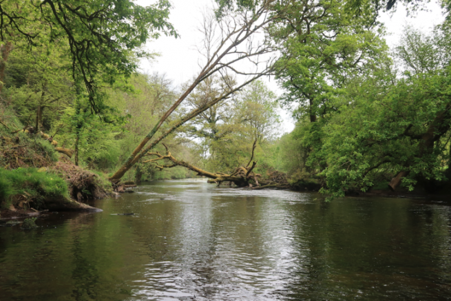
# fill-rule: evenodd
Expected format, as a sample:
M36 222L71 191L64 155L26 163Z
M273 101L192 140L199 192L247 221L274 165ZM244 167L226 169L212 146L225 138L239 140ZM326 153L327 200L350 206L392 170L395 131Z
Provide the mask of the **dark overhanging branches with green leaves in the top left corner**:
M83 81L92 110L107 110L101 83L114 83L137 69L141 47L160 33L177 36L167 22L170 3L138 6L129 0L3 1L0 40L26 41L29 50L62 44L72 77Z

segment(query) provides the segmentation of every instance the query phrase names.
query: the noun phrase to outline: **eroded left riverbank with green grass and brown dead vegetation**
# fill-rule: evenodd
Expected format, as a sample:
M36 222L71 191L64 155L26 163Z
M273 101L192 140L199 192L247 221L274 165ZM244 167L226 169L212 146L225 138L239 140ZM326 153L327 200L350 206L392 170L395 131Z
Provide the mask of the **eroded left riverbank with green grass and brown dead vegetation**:
M101 174L57 161L40 169L0 169L0 218L36 216L43 211L101 211L83 202L112 194Z

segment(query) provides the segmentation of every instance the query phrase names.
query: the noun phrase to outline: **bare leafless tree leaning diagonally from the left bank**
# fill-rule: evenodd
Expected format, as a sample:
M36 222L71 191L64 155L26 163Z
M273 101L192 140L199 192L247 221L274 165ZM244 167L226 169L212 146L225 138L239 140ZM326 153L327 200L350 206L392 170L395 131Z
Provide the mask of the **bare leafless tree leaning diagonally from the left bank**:
M264 0L259 4L258 8L231 12L229 16L222 16L220 19L217 19L213 14L204 17L204 23L200 31L204 34L202 55L204 55L206 63L180 98L161 116L158 123L143 138L143 141L134 149L125 163L109 178L112 183L118 183L120 178L135 163L147 156L149 150L178 127L208 110L209 107L230 98L233 93L240 91L252 81L259 79L261 76L270 75L273 72L275 47L269 42L269 36L267 34L264 35L262 41L255 41L254 39L255 34L268 30L271 21L280 18L277 14L270 15L272 3L273 0ZM251 70L246 68L249 65L252 66ZM200 83L216 74L223 80L224 87L220 96L206 101L202 106L182 116L179 121L147 145L182 101ZM241 82L237 83L231 74L239 76Z

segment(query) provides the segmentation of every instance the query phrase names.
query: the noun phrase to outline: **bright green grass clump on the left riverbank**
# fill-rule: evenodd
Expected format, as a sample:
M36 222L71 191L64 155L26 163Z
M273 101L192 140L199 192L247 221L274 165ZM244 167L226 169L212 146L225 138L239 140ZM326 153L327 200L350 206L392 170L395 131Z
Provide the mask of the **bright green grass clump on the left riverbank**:
M41 209L45 200L69 198L67 183L50 172L36 168L0 169L0 204Z

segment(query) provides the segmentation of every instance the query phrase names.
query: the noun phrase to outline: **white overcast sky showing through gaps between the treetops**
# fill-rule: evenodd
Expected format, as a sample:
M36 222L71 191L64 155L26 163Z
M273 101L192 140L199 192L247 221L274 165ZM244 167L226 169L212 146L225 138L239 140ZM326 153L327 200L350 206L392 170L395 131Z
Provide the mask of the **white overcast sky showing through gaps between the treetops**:
M136 1L141 6L147 6L153 2ZM146 45L147 50L158 52L160 55L153 61L142 61L140 69L149 74L154 72L166 74L167 78L174 81L174 85L180 85L192 79L200 70L198 66L200 54L196 50L196 43L200 43L202 34L198 31L198 26L202 20L202 12L211 8L213 3L211 0L171 0L171 3L173 8L169 21L174 25L180 37L175 39L162 36L157 40L149 41ZM398 5L395 13L382 12L379 16L379 21L386 26L388 33L386 41L390 48L397 45L404 26L412 25L413 28L428 32L443 19L439 4L433 0L426 5L426 10L416 12L411 16L407 15L406 8L402 5ZM264 81L277 95L282 94L282 90L274 79L264 79ZM295 123L289 112L281 109L280 116L282 119L281 134L291 132Z

